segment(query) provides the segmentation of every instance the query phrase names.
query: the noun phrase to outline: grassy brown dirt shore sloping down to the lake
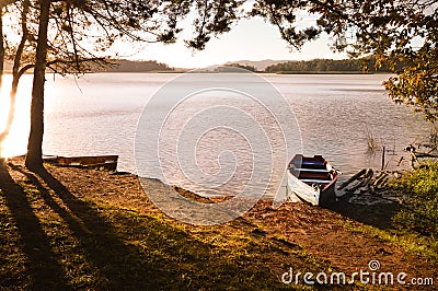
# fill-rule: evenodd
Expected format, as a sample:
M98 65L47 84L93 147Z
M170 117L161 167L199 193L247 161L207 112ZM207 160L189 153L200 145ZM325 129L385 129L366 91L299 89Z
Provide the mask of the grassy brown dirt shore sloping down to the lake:
M260 200L229 223L194 226L149 200L149 191L175 190L159 181L147 179L145 193L131 174L47 165L36 175L20 159L0 167L0 289L311 289L302 279L285 284L281 276L290 268L372 273L370 260L379 261L377 273L407 273L406 286L394 277L388 288L426 277L438 284L435 246L390 228L395 206L274 209ZM387 287L358 280L347 286Z

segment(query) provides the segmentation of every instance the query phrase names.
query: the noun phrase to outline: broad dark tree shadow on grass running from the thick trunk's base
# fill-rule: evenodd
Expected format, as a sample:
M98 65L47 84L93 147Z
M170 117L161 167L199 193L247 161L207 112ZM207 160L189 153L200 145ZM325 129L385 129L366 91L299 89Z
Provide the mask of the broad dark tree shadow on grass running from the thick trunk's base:
M114 226L99 213L97 207L77 198L49 172L38 172L38 179L26 170L18 166L14 170L24 174L36 186L44 202L67 222L79 241L74 252L84 255L89 268L94 269L93 276L97 277L92 280L93 284L113 290L142 289L162 286L165 282L161 282L161 279L173 278L175 270L165 270L159 264L151 264L142 257L140 249L125 244L117 237Z

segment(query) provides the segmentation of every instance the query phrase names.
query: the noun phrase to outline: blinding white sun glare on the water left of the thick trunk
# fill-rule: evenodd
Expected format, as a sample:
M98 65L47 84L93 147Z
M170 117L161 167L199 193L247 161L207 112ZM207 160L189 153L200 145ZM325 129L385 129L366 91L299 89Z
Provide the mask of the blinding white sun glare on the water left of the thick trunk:
M8 123L10 107L10 91L12 75L3 75L0 91L0 132L3 132ZM31 89L32 75L23 75L16 93L15 114L10 132L3 143L0 144L0 156L11 158L26 152L28 130L31 126Z

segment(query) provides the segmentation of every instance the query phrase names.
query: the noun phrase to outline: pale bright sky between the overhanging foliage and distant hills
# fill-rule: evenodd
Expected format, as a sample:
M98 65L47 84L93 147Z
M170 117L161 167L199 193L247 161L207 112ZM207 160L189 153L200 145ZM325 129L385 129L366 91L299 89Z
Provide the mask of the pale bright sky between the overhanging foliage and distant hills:
M120 57L158 60L176 68L203 68L237 60L339 59L346 56L333 54L326 37L304 45L301 51L290 51L275 26L262 19L251 19L242 20L231 32L212 38L203 51L186 48L183 40L178 39L172 45L149 44L131 48Z

